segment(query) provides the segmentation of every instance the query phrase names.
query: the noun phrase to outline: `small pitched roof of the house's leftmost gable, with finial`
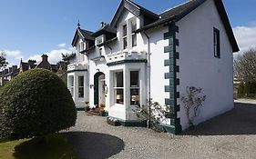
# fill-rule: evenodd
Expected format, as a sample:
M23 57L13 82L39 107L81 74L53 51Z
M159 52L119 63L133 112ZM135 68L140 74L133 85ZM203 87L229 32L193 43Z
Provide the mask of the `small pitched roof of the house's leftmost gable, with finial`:
M76 33L74 35L74 38L72 40L72 46L76 45L78 37L80 37L83 40L94 41L94 37L91 36L92 34L93 34L93 32L85 30L85 29L81 29L80 27L78 27L77 30L76 30Z

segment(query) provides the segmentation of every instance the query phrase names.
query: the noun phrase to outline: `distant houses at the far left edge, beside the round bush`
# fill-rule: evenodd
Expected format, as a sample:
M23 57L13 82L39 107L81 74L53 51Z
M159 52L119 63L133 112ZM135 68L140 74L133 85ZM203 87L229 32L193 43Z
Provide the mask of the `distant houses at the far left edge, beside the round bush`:
M10 81L15 77L15 75L18 75L19 69L17 68L17 65L12 65L8 69L5 69L0 72L0 86L3 86L5 83Z

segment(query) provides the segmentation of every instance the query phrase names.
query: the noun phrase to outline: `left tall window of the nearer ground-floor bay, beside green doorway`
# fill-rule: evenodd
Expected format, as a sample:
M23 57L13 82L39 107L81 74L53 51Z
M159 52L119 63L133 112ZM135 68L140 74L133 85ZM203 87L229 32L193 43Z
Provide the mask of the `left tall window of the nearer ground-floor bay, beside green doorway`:
M124 104L124 80L123 72L114 74L114 96L116 104Z

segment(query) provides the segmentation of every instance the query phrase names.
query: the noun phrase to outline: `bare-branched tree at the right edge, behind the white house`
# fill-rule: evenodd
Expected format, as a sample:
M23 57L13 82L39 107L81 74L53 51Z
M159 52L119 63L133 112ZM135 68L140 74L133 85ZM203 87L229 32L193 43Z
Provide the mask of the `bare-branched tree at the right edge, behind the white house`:
M234 61L234 74L242 82L256 83L256 48L237 57Z

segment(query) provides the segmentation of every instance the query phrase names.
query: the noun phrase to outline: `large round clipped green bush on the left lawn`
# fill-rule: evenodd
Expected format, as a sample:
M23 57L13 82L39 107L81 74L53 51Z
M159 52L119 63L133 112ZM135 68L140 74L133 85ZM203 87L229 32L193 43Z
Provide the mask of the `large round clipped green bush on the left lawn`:
M44 136L76 124L67 86L46 69L17 75L0 92L0 138Z

